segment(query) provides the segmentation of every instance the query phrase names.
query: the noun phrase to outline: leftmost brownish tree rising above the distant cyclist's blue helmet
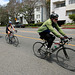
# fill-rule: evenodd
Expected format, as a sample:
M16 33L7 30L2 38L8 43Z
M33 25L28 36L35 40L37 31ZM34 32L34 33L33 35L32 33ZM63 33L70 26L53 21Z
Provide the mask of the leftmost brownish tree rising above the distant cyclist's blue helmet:
M19 2L10 1L7 5L8 15L11 17L11 21L16 23L15 18L17 18L18 13L22 9L22 4Z

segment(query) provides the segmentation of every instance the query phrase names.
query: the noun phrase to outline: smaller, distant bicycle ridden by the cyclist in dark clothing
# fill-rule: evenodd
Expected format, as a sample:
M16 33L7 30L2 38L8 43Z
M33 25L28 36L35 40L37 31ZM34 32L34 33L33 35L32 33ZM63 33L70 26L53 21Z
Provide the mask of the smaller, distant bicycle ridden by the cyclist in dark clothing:
M16 30L16 33L17 33L17 30ZM13 31L11 31L9 36L8 36L8 34L6 34L5 40L8 44L13 44L15 47L17 47L19 44L19 40L18 40L17 36L14 35Z

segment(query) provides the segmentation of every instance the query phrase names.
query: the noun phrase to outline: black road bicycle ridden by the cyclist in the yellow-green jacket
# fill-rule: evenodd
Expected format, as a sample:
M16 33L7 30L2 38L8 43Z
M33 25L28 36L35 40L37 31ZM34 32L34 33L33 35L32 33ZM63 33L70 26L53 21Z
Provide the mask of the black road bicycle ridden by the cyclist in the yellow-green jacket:
M58 47L55 49L51 47L50 51L47 51L46 46L48 45L48 42L46 40L44 40L44 42L35 42L33 44L34 55L44 59L47 57L48 53L52 55L57 51L56 58L58 64L65 69L75 71L75 50L65 47L65 44L69 44L70 41L72 41L72 38L60 40L59 43L54 41L53 44L57 44Z

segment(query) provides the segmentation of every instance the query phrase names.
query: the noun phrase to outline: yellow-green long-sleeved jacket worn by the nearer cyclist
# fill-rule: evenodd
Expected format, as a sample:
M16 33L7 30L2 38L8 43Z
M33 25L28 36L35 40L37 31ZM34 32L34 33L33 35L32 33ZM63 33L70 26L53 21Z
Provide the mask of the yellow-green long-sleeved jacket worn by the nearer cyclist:
M62 31L62 29L58 26L57 23L54 23L52 24L52 21L51 19L48 19L47 21L45 21L41 27L39 27L38 29L38 33L41 33L41 32L52 32L55 36L57 37L61 37L61 35L55 30L55 29L63 36L65 36L65 33Z

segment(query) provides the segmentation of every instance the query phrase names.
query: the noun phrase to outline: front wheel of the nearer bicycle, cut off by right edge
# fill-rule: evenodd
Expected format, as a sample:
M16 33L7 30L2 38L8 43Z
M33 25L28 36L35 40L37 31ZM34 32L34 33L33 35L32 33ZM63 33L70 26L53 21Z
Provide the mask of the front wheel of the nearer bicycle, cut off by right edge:
M75 71L75 50L65 47L65 51L67 52L68 57L65 56L62 48L57 51L56 58L58 64L65 69Z

